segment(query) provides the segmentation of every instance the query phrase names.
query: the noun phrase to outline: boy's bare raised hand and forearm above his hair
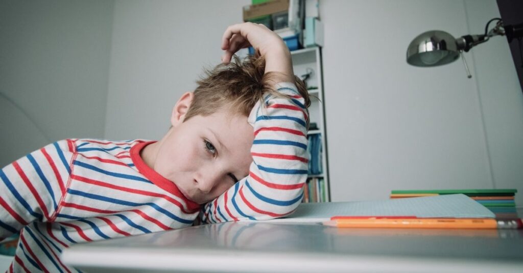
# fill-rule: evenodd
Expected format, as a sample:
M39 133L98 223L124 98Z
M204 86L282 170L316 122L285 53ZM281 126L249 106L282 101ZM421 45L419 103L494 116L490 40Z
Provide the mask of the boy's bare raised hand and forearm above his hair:
M287 45L266 26L257 23L238 23L229 26L223 33L223 63L231 62L232 55L240 49L253 46L265 57L265 73L279 72L276 81L294 81L291 54Z

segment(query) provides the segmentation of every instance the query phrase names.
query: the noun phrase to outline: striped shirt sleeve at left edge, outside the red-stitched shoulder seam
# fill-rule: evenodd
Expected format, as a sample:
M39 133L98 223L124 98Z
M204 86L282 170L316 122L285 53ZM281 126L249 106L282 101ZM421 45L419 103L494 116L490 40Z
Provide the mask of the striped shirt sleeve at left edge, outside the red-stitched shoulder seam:
M71 173L71 140L29 153L0 170L0 241L33 221L51 222Z

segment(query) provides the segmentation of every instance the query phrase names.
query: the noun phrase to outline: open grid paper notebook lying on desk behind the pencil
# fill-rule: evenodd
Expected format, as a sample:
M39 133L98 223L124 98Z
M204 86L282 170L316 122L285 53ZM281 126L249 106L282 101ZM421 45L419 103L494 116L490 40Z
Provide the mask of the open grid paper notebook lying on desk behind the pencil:
M463 194L379 201L302 203L288 218L326 219L333 216L416 216L420 218L494 218L494 213Z

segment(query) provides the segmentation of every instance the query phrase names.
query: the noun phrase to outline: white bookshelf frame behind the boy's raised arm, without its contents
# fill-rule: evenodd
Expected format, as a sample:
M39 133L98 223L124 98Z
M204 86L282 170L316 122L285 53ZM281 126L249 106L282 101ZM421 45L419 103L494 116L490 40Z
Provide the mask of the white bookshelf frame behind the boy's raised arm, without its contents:
M331 193L329 190L328 180L328 162L327 162L327 141L326 141L326 130L325 130L325 110L324 110L324 96L323 96L323 74L322 74L322 54L321 48L306 48L301 50L291 51L292 64L294 74L300 78L302 75L307 74L312 69L312 74L306 83L308 88L314 88L309 90L311 95L311 106L309 108L310 122L317 124L317 129L309 131L310 135L321 135L321 164L322 174L309 174L310 179L323 178L325 183L325 198L323 201L331 200Z

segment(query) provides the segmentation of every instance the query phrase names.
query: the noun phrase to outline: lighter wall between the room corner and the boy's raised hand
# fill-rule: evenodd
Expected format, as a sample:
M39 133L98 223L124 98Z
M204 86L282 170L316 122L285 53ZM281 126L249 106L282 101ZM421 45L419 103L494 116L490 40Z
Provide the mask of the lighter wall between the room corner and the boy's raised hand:
M181 94L220 63L222 34L249 3L116 1L105 136L161 138Z

